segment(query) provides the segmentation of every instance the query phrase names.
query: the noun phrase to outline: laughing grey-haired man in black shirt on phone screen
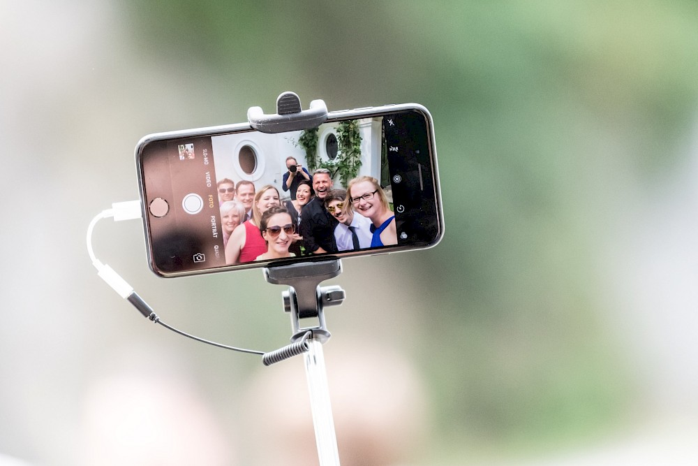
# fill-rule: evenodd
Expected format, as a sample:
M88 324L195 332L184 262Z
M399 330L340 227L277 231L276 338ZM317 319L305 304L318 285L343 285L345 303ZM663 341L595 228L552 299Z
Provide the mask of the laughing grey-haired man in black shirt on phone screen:
M325 197L332 190L332 175L327 168L318 168L313 172L313 189L315 197L301 211L303 246L306 254L335 253L334 227L338 222L325 209Z

